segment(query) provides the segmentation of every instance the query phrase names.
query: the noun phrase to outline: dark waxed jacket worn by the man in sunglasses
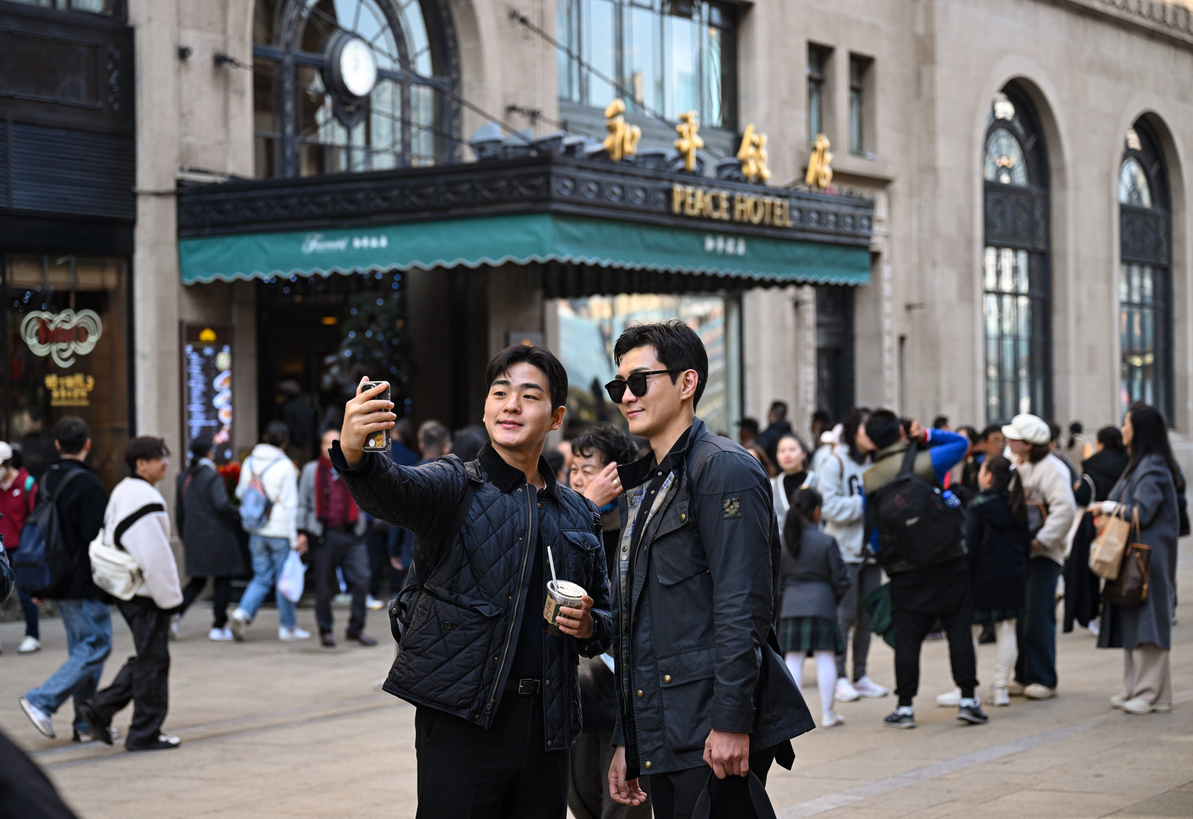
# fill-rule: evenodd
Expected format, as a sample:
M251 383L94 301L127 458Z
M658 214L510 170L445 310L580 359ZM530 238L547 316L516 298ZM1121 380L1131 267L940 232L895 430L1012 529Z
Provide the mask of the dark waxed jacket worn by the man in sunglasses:
M761 464L699 418L669 476L654 455L618 467L618 725L628 776L699 768L712 728L750 734L750 750L787 743L815 722L778 653L779 529ZM651 511L637 547L632 525ZM631 554L631 550L633 554ZM629 581L631 559L636 566Z

